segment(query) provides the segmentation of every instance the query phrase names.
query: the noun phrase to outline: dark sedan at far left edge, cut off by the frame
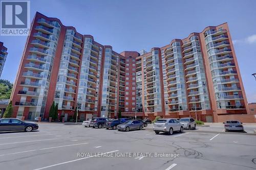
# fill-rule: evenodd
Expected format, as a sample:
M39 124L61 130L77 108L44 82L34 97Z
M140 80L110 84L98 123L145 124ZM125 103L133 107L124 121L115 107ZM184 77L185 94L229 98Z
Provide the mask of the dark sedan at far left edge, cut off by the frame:
M35 123L23 122L18 118L2 118L0 119L0 131L25 131L31 132L37 130L38 125Z

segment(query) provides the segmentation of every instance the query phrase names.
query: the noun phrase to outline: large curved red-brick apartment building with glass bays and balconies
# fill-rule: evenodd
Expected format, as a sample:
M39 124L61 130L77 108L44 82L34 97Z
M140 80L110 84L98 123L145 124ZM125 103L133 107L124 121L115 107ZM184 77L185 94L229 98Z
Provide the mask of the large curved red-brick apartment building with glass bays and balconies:
M116 53L36 13L11 100L14 117L186 117L243 120L245 91L227 23L150 52ZM252 115L253 116L253 115ZM248 117L248 116L247 116Z

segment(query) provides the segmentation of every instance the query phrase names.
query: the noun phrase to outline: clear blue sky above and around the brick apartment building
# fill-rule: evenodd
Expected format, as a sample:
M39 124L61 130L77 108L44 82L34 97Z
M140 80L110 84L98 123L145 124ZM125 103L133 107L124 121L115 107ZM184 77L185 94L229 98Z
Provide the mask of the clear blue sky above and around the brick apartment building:
M33 0L31 21L36 11L56 17L81 34L91 34L113 50L150 51L171 40L186 38L207 26L227 22L239 62L249 103L256 102L256 1L149 1L149 0ZM26 36L0 36L8 48L1 79L15 81Z

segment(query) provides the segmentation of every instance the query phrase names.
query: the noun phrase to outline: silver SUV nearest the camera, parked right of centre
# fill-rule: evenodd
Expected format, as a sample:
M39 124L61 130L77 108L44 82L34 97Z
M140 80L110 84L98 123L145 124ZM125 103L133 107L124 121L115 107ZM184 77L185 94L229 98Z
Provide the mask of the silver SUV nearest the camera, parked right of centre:
M169 135L172 135L174 131L183 132L183 125L178 122L178 120L174 118L161 118L156 120L156 123L154 123L153 130L156 134L159 134L160 132L168 133Z

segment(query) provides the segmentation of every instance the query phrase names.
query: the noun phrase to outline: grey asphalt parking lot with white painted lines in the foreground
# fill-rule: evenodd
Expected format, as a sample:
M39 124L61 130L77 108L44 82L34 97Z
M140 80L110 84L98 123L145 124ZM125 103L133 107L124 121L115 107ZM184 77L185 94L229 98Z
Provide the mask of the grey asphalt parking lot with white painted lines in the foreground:
M41 123L34 132L0 133L0 167L9 170L256 169L256 136L193 130L156 135L150 126L120 132Z

